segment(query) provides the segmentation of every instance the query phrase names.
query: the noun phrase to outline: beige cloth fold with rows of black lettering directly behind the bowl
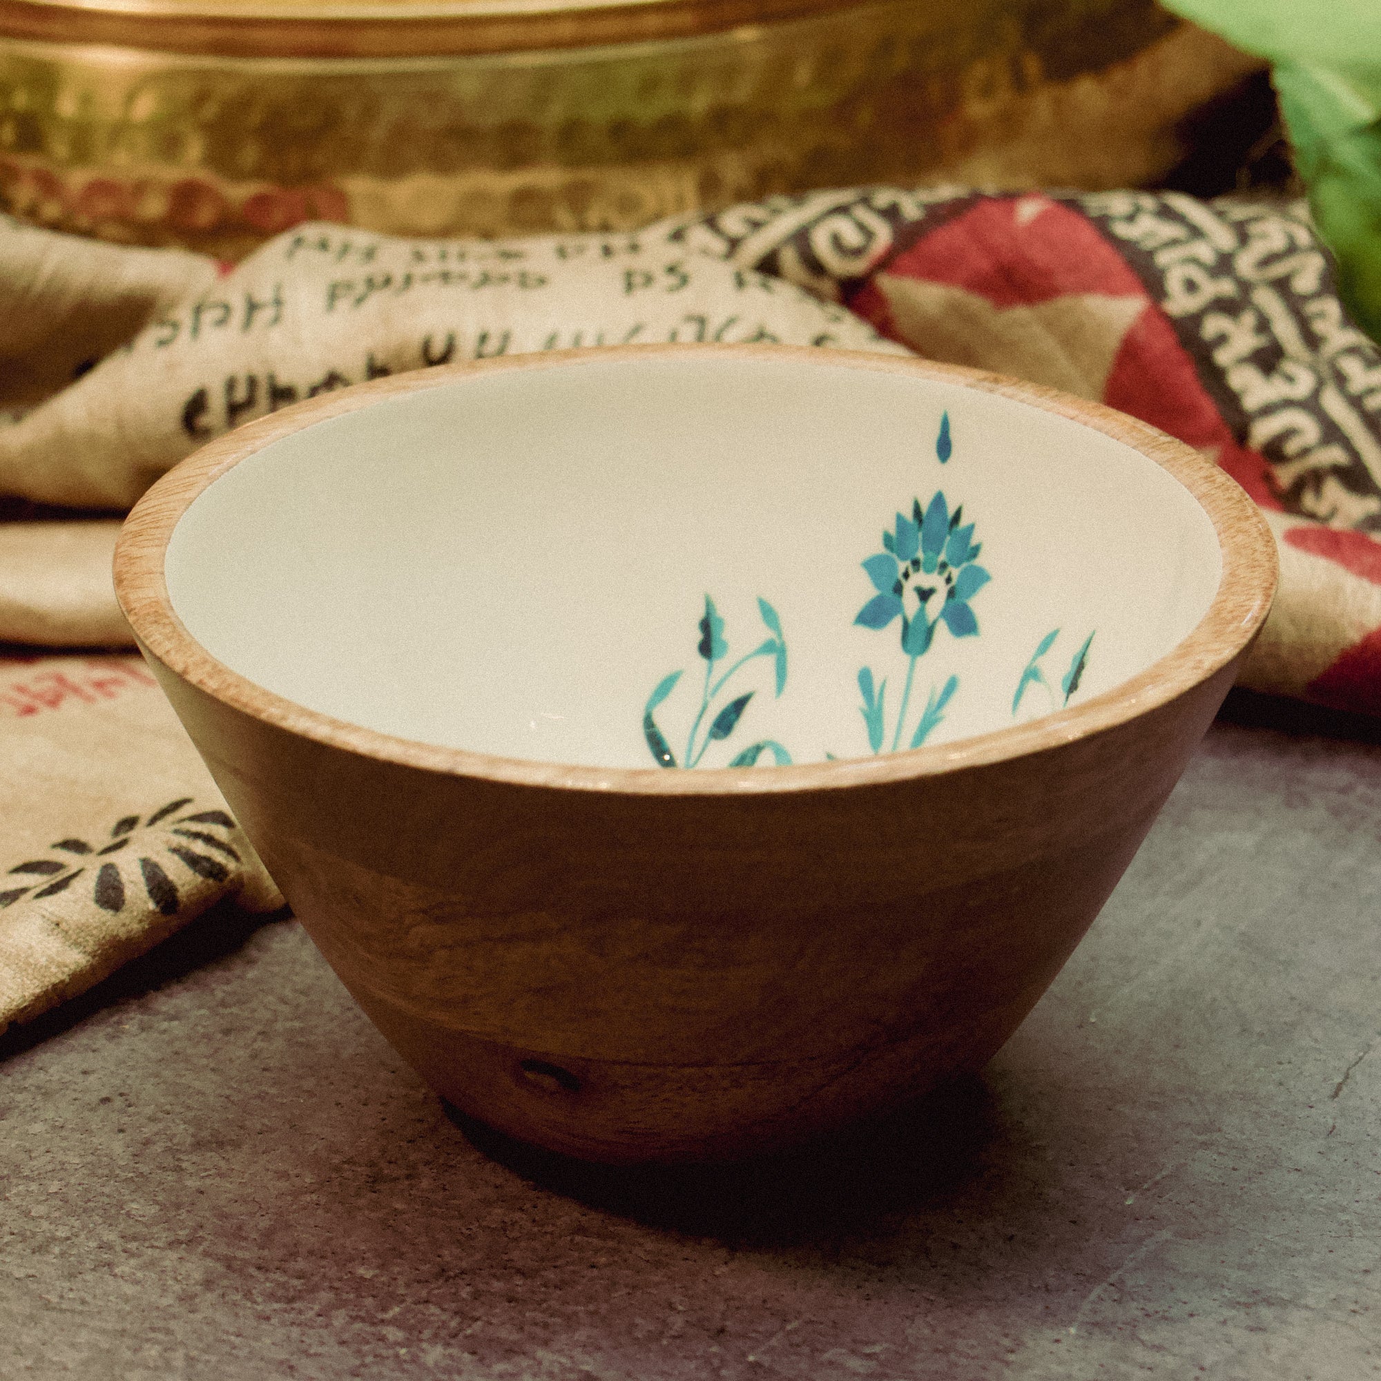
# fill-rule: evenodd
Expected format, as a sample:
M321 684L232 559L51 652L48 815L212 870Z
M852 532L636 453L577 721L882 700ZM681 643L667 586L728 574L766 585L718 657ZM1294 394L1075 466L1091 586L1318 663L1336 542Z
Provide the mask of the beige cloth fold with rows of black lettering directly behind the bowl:
M133 340L0 429L0 493L128 508L240 423L449 360L678 340L899 349L833 302L674 242L674 229L457 243L298 226L175 305L151 300Z

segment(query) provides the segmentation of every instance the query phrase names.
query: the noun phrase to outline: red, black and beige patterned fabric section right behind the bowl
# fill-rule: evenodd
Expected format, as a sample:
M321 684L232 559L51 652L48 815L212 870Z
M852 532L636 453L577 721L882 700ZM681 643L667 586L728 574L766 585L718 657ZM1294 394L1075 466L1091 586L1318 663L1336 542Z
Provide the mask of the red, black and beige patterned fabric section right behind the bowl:
M1098 399L1211 456L1268 512L1282 559L1243 684L1381 714L1381 351L1302 210L860 189L686 233L931 359Z

